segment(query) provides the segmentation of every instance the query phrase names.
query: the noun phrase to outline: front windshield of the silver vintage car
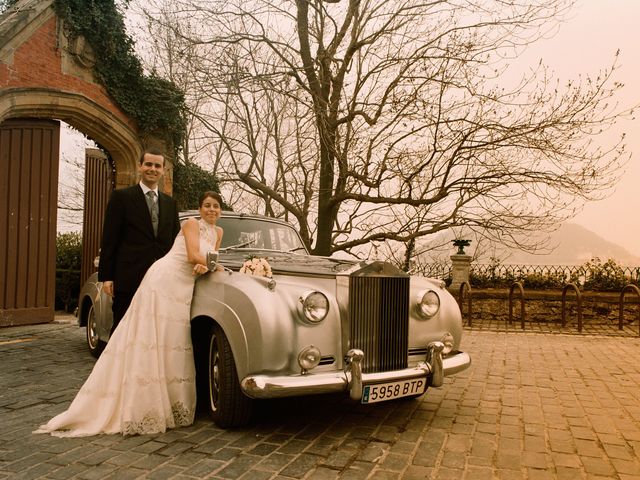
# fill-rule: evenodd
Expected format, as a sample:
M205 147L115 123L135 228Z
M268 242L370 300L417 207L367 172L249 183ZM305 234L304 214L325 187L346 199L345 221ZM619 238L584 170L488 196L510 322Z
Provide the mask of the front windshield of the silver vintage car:
M255 218L220 217L218 226L224 230L220 248L257 248L283 252L306 253L296 230L281 223Z

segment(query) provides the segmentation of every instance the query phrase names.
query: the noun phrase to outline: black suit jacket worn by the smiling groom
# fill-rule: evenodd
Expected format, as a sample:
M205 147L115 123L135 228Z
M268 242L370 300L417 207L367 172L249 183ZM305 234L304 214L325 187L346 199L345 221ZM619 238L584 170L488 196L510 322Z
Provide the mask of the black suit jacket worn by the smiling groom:
M113 281L116 292L137 290L147 269L166 255L180 231L173 198L160 192L158 210L156 236L140 185L114 190L104 218L99 281Z

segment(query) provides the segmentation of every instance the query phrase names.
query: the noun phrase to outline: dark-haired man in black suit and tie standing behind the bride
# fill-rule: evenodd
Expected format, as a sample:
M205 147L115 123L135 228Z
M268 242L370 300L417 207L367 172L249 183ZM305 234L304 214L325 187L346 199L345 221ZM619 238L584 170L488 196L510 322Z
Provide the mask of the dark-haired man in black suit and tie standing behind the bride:
M180 231L175 200L158 191L164 155L146 150L138 172L139 184L113 191L104 217L98 281L113 298L112 335L142 277L171 249Z

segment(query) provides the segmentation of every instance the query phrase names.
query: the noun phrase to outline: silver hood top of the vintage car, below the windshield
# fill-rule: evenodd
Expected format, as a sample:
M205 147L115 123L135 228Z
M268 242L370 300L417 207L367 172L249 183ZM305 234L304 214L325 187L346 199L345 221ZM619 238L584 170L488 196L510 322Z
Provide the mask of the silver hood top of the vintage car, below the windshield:
M299 273L304 275L336 275L353 269L366 262L341 260L314 255L276 252L273 250L238 249L220 252L220 263L225 267L237 270L242 263L251 257L265 258L274 273Z

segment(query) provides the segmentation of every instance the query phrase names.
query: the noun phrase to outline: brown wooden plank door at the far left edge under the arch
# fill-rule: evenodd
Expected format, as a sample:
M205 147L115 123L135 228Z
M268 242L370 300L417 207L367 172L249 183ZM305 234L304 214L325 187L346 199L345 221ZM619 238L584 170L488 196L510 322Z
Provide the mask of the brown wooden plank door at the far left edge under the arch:
M59 145L57 121L0 123L0 326L54 318Z

